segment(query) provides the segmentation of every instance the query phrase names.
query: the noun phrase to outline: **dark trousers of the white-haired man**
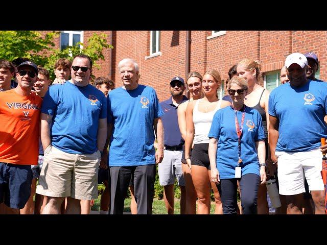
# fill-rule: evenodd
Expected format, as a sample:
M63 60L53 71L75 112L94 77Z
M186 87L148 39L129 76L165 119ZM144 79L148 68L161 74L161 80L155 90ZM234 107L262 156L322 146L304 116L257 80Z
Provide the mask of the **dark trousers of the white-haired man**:
M154 196L155 164L110 167L110 214L123 214L124 201L132 175L137 214L151 214Z

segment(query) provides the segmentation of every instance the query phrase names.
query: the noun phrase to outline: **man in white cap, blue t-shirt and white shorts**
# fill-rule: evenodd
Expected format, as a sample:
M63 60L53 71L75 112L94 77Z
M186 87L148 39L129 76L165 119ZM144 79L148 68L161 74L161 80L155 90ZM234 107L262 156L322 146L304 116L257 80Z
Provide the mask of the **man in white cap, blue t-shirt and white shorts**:
M326 137L327 86L307 78L307 58L293 53L285 61L289 83L269 96L269 146L278 160L279 194L285 195L287 214L301 214L304 177L315 213L324 214L320 138Z

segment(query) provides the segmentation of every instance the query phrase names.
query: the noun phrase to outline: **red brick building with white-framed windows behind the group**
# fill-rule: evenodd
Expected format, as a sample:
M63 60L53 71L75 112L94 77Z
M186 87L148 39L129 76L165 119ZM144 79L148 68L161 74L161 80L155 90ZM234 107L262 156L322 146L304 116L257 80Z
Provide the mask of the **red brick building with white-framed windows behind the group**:
M154 87L161 101L170 96L168 88L172 77L185 78L188 31L62 32L56 42L58 46L67 40L74 42L74 34L76 40L80 35L86 44L93 33L108 35L108 43L114 48L104 51L105 61L98 62L101 69L94 69L94 74L109 76L116 81L116 87L121 86L117 65L123 58L137 61L141 74L139 83ZM214 68L220 72L222 80L226 80L233 64L251 58L262 64L263 86L273 89L278 86L279 70L289 54L314 52L320 67L316 77L324 81L327 78L327 31L189 31L189 34L189 67L200 74Z

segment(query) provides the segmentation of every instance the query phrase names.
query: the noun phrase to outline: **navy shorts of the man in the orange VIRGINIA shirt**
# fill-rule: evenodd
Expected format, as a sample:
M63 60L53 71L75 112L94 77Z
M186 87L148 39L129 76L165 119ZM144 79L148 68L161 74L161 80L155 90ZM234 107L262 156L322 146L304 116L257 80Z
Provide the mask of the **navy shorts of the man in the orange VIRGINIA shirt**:
M0 162L0 203L10 208L24 208L31 195L31 165Z

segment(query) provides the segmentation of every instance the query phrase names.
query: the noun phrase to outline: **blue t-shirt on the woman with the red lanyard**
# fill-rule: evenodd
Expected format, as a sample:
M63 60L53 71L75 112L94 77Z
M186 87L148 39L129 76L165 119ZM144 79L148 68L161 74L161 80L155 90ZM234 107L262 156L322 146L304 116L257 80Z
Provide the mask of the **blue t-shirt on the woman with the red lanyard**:
M241 174L256 174L260 176L258 153L255 141L264 140L265 133L260 113L250 107L245 107L243 132L241 135ZM241 127L243 111L237 111ZM235 167L239 160L238 136L235 125L235 111L230 106L218 110L213 118L208 137L218 139L216 164L220 179L235 178Z

